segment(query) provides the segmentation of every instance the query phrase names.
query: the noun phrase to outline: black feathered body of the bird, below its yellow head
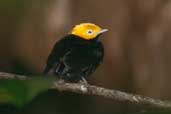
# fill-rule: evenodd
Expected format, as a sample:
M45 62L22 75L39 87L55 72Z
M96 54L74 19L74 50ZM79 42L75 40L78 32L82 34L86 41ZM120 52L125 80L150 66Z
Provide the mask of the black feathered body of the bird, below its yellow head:
M44 73L52 70L59 78L70 82L86 78L103 60L103 45L98 37L84 40L75 35L65 36L55 44Z

